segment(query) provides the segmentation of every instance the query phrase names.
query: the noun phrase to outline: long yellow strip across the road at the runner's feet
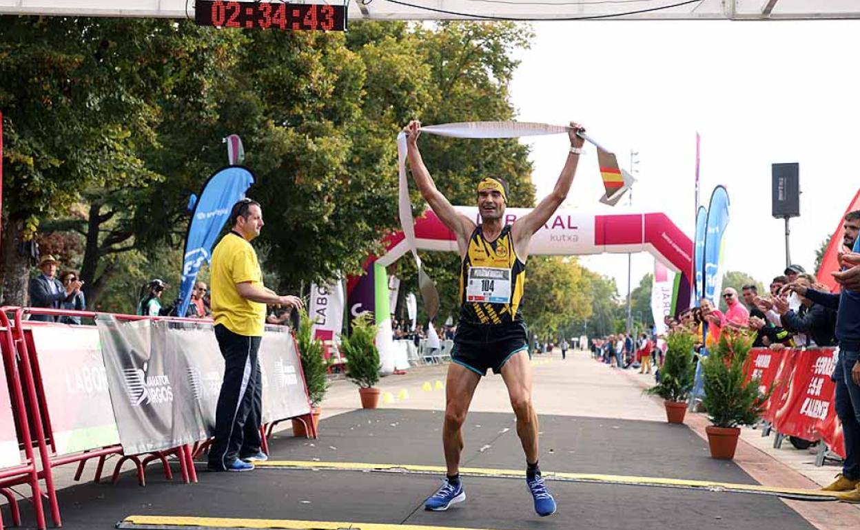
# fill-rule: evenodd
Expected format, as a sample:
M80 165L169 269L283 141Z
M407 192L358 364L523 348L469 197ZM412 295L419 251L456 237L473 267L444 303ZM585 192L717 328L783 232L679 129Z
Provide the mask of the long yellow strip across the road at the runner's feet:
M268 460L255 462L256 467L275 467L286 469L333 471L363 471L363 472L412 472L412 473L445 473L443 466L416 466L414 464L368 464L361 462L314 462L307 460ZM522 478L525 470L494 469L487 467L461 467L460 474L471 477ZM604 475L598 473L568 473L543 471L544 478L567 482L590 482L599 484L629 484L642 486L680 487L714 491L732 491L744 493L764 493L777 496L807 498L809 500L839 500L839 496L831 491L798 490L779 488L759 484L732 484L728 482L712 482L710 480L687 480L684 478L631 477L625 475Z

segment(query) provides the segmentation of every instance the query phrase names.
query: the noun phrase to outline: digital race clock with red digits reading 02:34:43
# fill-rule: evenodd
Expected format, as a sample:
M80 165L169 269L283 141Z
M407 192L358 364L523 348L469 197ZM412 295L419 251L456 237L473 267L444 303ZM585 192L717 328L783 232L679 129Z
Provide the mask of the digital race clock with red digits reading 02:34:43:
M197 0L194 21L198 26L343 31L347 9L343 5L316 3Z

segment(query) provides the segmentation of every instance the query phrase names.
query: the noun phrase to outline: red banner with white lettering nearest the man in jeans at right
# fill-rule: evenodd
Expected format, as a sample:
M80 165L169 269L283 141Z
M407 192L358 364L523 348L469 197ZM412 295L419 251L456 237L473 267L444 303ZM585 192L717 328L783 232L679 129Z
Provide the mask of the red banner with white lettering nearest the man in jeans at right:
M833 409L835 386L830 379L836 366L834 350L802 350L797 357L787 399L777 410L774 427L786 436L814 441L815 427Z

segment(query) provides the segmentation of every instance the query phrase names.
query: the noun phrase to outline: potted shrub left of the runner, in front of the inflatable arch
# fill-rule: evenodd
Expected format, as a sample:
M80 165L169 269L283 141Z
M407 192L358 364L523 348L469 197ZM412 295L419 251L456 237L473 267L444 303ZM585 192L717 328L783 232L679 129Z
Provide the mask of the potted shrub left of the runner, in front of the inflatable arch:
M361 406L375 409L379 404L379 350L374 344L377 327L370 313L359 314L353 319L353 332L341 337L341 353L347 358L347 379L359 386Z

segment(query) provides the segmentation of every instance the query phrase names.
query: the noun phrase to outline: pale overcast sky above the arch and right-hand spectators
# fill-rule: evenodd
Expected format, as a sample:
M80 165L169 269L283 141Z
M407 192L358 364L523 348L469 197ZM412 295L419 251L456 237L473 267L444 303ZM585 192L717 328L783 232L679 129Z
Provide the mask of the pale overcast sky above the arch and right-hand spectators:
M638 151L633 209L663 211L692 238L694 168L702 137L701 201L728 188L726 269L762 283L785 265L784 224L771 217L771 163L799 162L801 216L791 220L791 260L809 271L860 187L860 21L582 21L534 26L531 50L512 86L518 119L570 119L615 151L630 170ZM538 198L550 191L567 155L566 137L529 142ZM597 155L583 157L569 206L598 203ZM583 259L627 291L627 255ZM633 256L632 283L653 271Z

